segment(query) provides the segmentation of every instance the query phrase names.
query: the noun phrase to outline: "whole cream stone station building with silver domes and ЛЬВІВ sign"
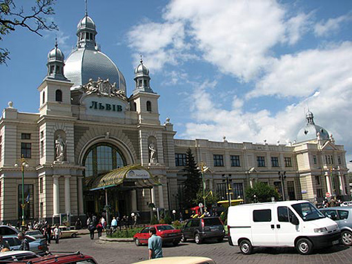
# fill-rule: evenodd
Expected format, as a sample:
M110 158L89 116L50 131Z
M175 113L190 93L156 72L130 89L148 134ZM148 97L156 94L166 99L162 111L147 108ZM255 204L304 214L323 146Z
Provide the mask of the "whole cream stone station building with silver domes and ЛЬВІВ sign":
M244 198L255 181L275 187L286 200L349 195L344 147L314 123L313 113L289 145L175 139L170 119L159 120L159 95L143 61L128 96L124 75L101 53L96 35L86 14L68 58L57 44L50 50L48 73L38 87L39 113L19 112L12 102L3 109L1 221L22 217L22 177L25 219L51 222L62 214L77 218L106 209L147 217L151 203L178 210L187 149L206 162L206 187L221 197L223 174L231 174L235 198Z

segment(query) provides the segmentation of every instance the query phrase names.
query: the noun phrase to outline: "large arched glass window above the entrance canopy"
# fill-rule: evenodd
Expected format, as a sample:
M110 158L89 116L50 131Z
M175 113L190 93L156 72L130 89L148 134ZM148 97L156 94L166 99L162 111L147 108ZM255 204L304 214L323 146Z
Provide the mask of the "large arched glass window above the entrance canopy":
M113 144L98 143L88 149L83 164L86 166L86 177L90 177L124 167L126 159Z

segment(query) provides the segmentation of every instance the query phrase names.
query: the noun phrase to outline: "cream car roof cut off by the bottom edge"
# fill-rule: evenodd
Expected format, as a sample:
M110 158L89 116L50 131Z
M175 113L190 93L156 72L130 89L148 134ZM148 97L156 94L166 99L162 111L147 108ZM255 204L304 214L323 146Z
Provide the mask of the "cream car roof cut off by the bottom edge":
M133 264L216 264L211 258L203 256L169 256L166 258L155 258L150 261L140 261Z

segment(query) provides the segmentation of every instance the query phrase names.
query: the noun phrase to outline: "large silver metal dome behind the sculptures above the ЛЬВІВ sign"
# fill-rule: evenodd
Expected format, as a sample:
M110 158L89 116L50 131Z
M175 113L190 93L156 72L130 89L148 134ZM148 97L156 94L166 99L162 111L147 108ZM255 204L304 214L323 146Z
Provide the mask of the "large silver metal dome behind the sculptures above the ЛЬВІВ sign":
M109 79L116 87L126 94L126 80L124 75L113 61L99 50L78 48L66 59L65 76L74 83L72 90L83 84L88 84L89 79Z

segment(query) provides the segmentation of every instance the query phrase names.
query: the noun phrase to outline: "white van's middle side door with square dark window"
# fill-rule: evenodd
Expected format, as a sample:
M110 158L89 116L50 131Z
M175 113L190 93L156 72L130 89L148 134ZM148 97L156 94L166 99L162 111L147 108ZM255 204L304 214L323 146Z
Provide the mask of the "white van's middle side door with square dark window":
M253 209L252 217L253 246L277 245L273 206Z

